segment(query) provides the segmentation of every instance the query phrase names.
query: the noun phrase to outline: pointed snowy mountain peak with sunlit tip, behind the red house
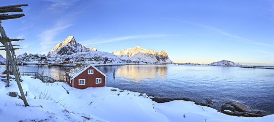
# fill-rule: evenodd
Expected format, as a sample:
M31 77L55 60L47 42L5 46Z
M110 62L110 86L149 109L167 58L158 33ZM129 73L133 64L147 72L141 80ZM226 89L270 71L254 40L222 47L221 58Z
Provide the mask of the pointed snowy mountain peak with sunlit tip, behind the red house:
M50 50L47 57L58 57L88 51L90 50L84 45L77 43L73 36L68 36L63 42L60 42L52 50Z

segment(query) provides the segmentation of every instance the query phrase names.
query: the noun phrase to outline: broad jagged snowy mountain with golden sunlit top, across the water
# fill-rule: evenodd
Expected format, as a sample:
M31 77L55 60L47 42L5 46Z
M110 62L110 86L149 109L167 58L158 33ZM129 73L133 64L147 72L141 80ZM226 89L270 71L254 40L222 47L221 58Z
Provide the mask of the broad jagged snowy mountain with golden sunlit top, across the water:
M173 63L168 58L168 54L165 51L160 53L151 50L143 49L139 46L135 48L128 48L126 50L114 51L112 52L115 56L124 61L139 61L139 62L148 62L148 63Z

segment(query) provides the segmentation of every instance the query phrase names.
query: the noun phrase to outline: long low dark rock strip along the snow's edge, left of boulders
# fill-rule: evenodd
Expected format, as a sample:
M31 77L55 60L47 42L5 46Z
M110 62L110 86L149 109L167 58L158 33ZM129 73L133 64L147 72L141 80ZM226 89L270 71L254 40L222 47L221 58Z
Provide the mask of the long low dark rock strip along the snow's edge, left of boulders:
M194 101L194 100L186 98L186 97L183 97L183 98L157 98L157 97L154 97L154 98L150 98L150 99L152 99L153 101L158 102L158 103L165 103L165 102L170 102L173 100L184 100L184 101L194 102L196 105L211 107L208 104L197 102L197 101Z

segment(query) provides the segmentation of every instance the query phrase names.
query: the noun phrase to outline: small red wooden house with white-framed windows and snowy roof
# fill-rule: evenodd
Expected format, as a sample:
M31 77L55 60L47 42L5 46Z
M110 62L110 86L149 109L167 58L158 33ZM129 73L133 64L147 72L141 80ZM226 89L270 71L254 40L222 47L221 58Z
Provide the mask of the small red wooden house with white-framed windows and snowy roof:
M106 75L93 65L77 64L66 71L66 81L77 89L104 87Z

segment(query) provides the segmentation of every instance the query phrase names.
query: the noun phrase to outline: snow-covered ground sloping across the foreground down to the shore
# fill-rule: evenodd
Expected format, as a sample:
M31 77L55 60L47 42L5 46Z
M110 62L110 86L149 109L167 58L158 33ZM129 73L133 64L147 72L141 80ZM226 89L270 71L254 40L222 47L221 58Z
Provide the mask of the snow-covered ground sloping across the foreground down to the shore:
M146 94L111 87L79 90L66 83L46 83L22 77L30 107L21 99L11 79L5 87L0 75L0 122L273 122L274 115L261 118L228 116L194 102L175 100L156 103Z

